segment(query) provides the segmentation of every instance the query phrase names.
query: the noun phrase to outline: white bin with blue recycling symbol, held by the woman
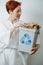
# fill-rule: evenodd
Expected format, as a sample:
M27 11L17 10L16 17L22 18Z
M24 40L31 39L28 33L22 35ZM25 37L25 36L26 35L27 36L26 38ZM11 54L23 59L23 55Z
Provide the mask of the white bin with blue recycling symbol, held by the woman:
M23 52L30 52L35 45L39 30L29 28L19 28L19 45L18 50Z

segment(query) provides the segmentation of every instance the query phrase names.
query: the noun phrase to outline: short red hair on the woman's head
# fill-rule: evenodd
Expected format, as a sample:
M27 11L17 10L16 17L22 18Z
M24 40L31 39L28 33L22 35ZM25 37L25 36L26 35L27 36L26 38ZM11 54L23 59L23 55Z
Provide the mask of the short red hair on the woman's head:
M6 10L9 13L9 10L13 11L19 5L21 5L21 3L18 1L14 1L14 0L8 1L6 3Z

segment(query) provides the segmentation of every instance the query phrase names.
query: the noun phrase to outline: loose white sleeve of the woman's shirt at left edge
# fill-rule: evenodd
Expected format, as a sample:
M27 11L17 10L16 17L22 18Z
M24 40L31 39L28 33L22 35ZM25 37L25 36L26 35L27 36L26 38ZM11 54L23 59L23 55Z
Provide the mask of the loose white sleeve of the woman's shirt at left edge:
M10 31L0 23L0 48L5 48L9 44Z

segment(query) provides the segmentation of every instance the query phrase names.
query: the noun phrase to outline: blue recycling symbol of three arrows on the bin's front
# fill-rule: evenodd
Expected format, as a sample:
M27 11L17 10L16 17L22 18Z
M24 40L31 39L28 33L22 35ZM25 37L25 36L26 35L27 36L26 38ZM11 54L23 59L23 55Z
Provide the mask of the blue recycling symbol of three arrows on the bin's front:
M31 36L28 33L25 33L21 39L20 42L22 44L26 44L26 45L31 45L32 41L31 41Z

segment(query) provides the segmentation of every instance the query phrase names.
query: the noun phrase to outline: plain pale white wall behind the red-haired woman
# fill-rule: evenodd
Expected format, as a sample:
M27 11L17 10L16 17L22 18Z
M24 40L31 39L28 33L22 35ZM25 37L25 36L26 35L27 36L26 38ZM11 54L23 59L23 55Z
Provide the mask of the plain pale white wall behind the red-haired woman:
M7 1L7 0L6 0ZM5 7L2 6L6 2L1 0L0 7L0 21L7 18L8 14L5 13ZM36 54L32 56L31 65L35 65L36 62L43 61L43 0L18 0L22 2L22 16L21 20L25 22L37 22L41 25L41 32L40 32L40 49ZM1 19L2 18L2 19Z

